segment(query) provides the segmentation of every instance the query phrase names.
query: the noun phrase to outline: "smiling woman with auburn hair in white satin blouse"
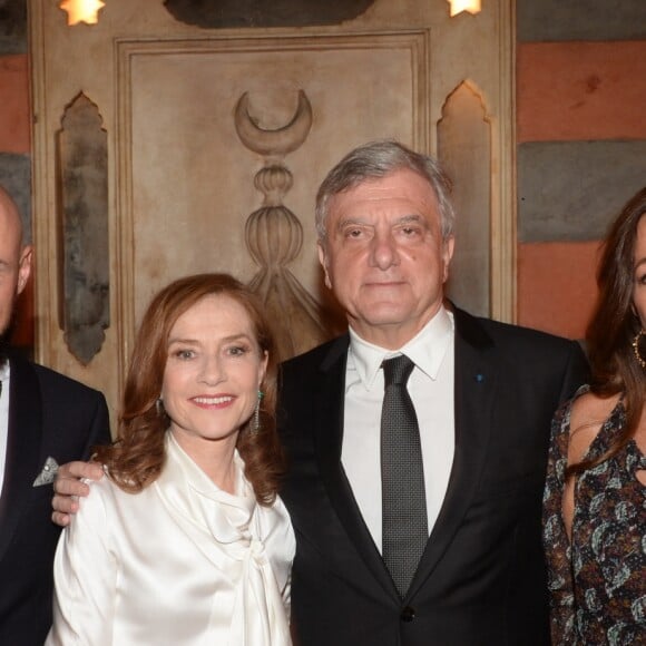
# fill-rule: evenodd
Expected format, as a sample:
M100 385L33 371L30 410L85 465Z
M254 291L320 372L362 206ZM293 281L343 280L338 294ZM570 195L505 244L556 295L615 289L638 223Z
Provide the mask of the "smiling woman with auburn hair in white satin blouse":
M154 297L97 452L108 477L58 546L48 645L291 644L276 370L262 306L231 276Z

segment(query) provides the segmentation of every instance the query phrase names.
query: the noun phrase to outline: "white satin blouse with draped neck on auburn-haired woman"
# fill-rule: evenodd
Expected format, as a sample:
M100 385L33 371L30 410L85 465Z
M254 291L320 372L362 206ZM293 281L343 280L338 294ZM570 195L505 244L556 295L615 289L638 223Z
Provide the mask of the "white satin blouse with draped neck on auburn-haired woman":
M280 499L256 503L235 456L219 490L170 433L139 493L109 478L65 529L46 646L288 646L295 540Z

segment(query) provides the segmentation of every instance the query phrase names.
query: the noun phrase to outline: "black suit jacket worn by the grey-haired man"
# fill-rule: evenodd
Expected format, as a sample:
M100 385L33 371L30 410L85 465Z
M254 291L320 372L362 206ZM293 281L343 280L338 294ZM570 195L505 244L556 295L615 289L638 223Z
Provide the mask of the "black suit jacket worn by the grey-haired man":
M454 321L454 460L403 600L341 464L349 337L283 365L282 497L297 539L302 646L549 644L540 528L549 428L586 361L576 342L460 310Z

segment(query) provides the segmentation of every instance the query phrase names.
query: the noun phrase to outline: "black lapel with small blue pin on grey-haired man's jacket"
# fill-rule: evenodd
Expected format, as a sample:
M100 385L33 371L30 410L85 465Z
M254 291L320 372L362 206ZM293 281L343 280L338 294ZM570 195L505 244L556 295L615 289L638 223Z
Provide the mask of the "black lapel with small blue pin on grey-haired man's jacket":
M456 321L456 452L447 495L409 589L415 594L450 546L476 493L492 425L497 370L492 342L469 314L457 310Z

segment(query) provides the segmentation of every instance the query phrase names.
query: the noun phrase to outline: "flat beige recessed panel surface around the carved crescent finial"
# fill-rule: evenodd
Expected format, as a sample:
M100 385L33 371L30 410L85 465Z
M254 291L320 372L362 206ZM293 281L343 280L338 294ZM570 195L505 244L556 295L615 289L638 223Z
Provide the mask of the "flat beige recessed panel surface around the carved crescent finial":
M339 150L376 135L414 147L425 140L424 112L417 106L429 90L427 55L428 35L421 31L119 42L119 101L130 119L123 121L118 145L123 175L136 178L120 196L119 217L128 228L121 235L134 241L125 266L137 267L133 327L153 292L177 275L226 271L248 282L256 273L254 258L241 253L247 216L262 199L252 188L254 177L288 150L272 151L271 144L249 150L241 140L234 119L241 96L248 97L264 133L290 124L302 96L312 106L311 129L288 155L292 186L284 207L306 225L303 246L313 251L313 196ZM313 301L322 301L314 255L294 254L290 263ZM286 332L302 336L297 327ZM314 345L316 335L303 334Z

